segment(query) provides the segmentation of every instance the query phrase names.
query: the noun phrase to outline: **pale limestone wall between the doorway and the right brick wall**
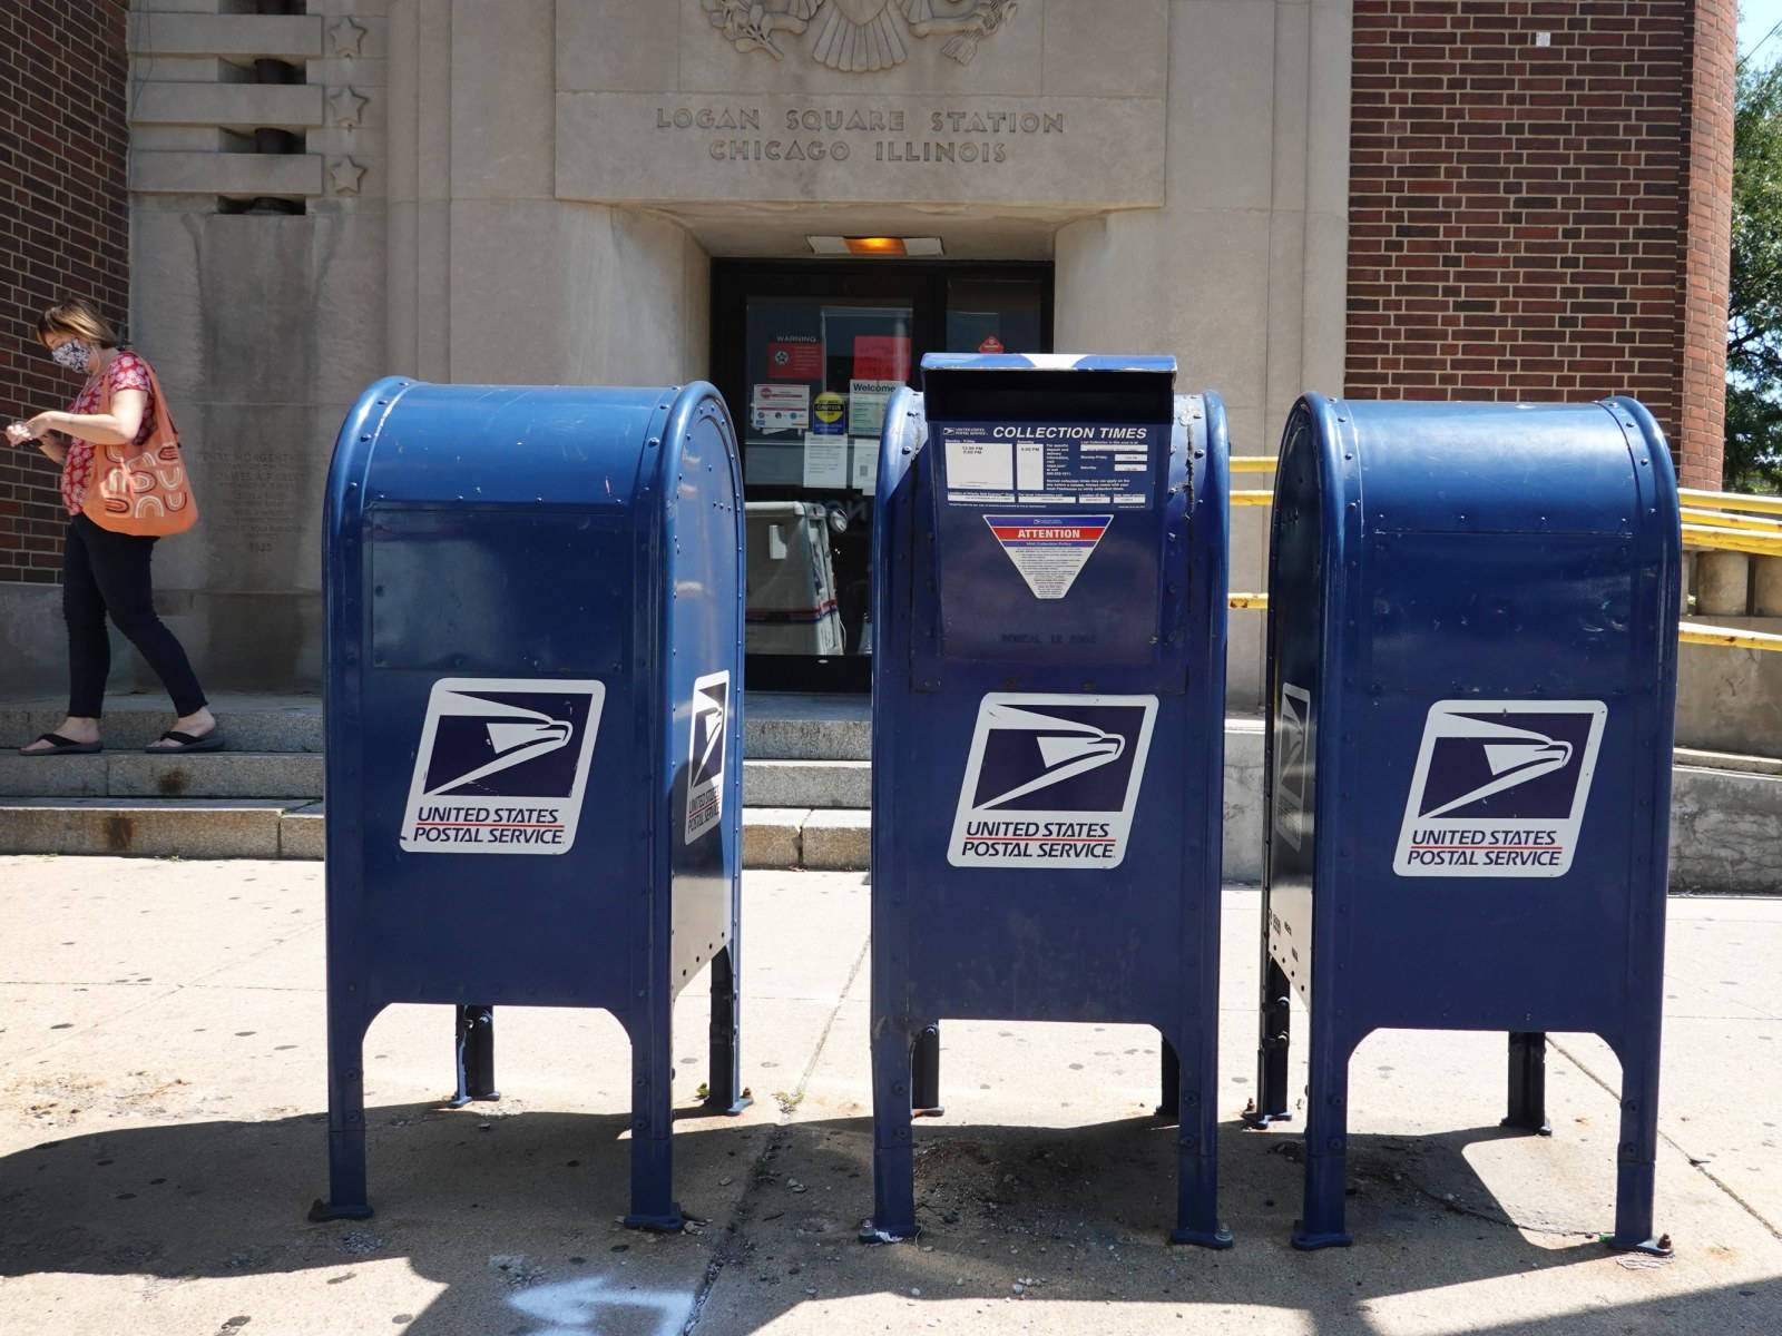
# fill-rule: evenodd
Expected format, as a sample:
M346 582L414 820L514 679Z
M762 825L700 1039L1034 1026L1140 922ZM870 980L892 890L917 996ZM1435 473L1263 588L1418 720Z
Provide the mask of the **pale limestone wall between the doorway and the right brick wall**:
M1349 4L1174 4L1167 41L1167 196L1059 232L1055 344L1174 353L1224 395L1231 451L1272 456L1303 390L1344 388ZM1233 511L1233 590L1267 584L1267 517ZM1263 631L1231 613L1233 711L1262 704Z

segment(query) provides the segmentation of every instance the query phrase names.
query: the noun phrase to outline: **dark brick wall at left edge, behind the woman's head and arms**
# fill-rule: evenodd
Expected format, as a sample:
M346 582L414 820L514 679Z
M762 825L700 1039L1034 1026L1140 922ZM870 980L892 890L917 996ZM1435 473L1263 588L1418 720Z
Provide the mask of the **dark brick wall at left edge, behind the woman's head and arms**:
M64 296L128 308L125 0L0 2L0 417L66 408L32 328ZM68 515L37 447L0 444L0 581L53 582Z

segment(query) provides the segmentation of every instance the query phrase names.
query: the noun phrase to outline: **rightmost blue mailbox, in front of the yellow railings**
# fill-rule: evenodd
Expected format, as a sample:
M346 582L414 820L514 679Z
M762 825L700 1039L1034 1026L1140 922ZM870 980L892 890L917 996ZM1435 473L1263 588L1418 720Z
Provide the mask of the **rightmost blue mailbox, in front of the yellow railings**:
M1632 399L1306 395L1269 554L1255 1122L1310 1010L1304 1217L1342 1245L1347 1081L1379 1028L1509 1033L1504 1126L1549 1131L1549 1030L1622 1063L1613 1247L1652 1236L1679 511Z

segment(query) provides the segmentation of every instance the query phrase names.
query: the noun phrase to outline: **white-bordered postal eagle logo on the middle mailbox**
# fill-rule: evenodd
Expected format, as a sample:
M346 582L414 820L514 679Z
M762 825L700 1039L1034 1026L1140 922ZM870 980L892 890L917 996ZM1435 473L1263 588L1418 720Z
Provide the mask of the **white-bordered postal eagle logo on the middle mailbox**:
M1119 868L1157 697L993 691L978 702L953 868Z

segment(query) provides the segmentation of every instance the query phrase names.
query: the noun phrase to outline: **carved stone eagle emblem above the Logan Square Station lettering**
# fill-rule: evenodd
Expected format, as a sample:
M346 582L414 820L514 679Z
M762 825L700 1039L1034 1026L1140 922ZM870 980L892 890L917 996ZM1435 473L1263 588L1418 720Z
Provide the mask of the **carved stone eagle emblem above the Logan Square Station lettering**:
M903 64L905 29L916 37L946 37L941 52L971 64L978 41L1016 11L1016 0L704 0L704 5L711 25L740 52L768 52L779 61L786 55L779 34L809 32L811 59L850 73Z

